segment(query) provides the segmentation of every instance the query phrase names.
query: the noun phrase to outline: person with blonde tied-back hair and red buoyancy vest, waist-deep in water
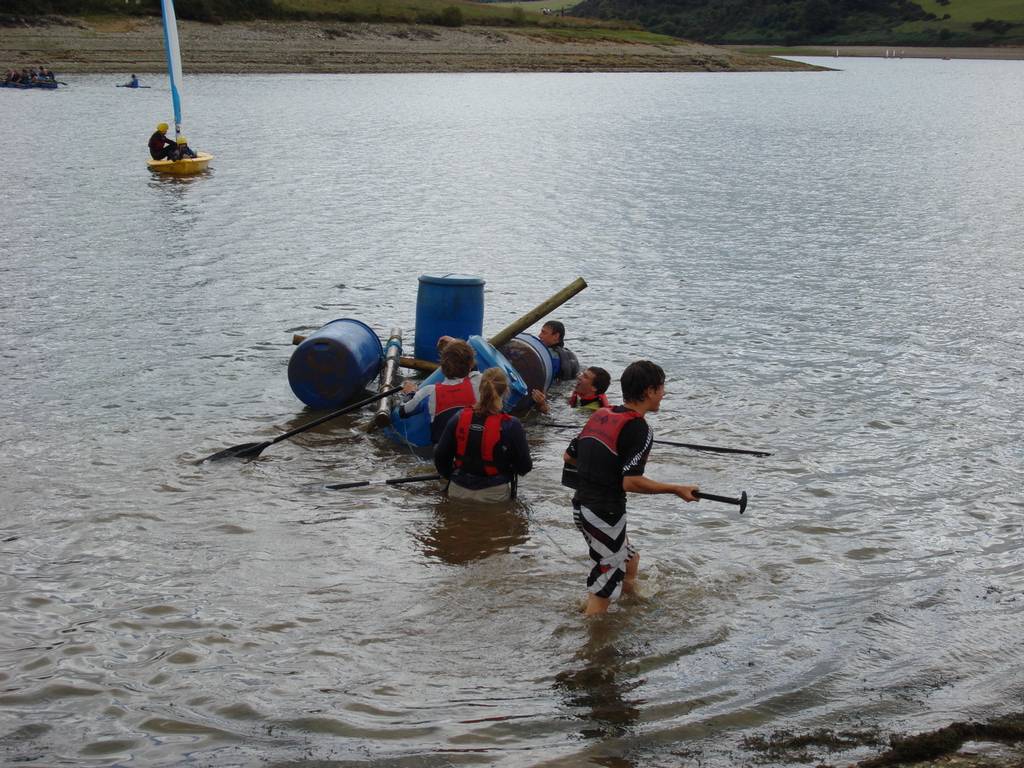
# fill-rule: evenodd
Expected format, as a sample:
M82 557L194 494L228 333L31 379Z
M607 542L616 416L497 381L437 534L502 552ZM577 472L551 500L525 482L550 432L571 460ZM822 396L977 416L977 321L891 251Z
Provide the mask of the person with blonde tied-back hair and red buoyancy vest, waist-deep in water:
M450 499L497 504L515 499L517 478L534 468L526 433L502 413L509 380L500 368L480 377L480 399L450 420L434 450L434 466L450 480Z

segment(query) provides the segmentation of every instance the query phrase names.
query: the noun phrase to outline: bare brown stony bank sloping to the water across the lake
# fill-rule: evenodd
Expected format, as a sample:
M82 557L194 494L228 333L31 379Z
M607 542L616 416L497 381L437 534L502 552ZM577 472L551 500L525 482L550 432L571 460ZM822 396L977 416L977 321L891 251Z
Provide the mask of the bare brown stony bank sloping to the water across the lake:
M496 27L178 22L188 73L778 72L817 68L700 43L627 42ZM0 69L162 73L159 18L0 27Z

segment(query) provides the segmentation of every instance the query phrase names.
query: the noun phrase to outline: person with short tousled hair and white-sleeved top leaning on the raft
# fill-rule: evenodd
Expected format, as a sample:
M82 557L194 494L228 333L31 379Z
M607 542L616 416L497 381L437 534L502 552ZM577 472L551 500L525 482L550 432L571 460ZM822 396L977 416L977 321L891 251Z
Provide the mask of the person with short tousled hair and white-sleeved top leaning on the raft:
M418 387L414 381L407 381L402 392L412 397L398 407L398 415L402 419L421 413L423 409L429 410L430 441L434 444L460 409L476 403L480 390L480 374L473 371L476 365L473 347L462 339L445 336L437 341L437 349L444 381L423 387Z

